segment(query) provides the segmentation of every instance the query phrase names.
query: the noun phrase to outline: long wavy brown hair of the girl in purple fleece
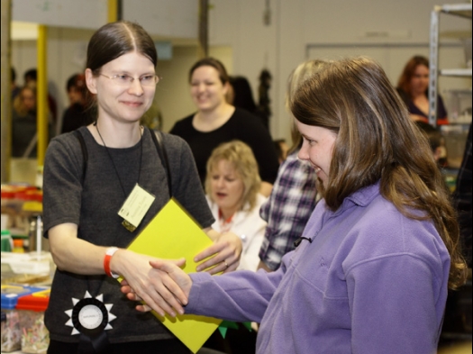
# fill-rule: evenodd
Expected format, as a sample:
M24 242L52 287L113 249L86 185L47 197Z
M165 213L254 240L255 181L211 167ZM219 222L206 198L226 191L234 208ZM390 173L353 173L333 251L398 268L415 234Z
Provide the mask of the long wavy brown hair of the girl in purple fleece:
M301 123L338 133L329 181L319 189L327 206L337 210L347 196L380 181L381 195L400 213L432 220L450 253L449 286L464 284L450 194L428 141L381 66L366 57L325 64L299 86L290 108Z

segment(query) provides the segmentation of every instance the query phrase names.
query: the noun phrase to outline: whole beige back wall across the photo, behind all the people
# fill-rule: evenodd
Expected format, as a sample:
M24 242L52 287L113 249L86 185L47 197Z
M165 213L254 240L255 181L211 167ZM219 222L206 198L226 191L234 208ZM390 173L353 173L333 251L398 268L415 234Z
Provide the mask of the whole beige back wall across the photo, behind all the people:
M192 3L191 13L196 14L198 4L197 0L180 0L169 7L168 1L123 0L124 19L142 23L156 41L168 39L173 44L173 58L159 61L157 68L163 80L156 99L166 132L195 110L187 75L197 59L196 32L193 35L188 30L196 26L196 18L186 13L178 21L171 19L175 19L176 9L185 8L188 3ZM368 54L383 64L396 84L407 59L415 54L428 56L431 12L434 5L441 5L438 0L211 0L210 4L210 55L221 59L232 75L248 77L255 99L259 73L263 68L269 70L273 77L269 91L271 132L275 139L287 141L289 120L284 97L293 68L305 59ZM67 11L67 7L62 11ZM162 23L165 29L160 28ZM179 31L180 27L187 30ZM445 43L440 66L466 68L459 37L471 37L471 21L441 14L440 28L441 42ZM66 80L83 69L86 42L92 30L61 25L50 27L49 33L50 90L58 98L59 109L63 109L67 104ZM20 84L24 70L36 66L35 53L34 41L14 41L13 64ZM439 85L441 91L471 87L471 79L441 77Z

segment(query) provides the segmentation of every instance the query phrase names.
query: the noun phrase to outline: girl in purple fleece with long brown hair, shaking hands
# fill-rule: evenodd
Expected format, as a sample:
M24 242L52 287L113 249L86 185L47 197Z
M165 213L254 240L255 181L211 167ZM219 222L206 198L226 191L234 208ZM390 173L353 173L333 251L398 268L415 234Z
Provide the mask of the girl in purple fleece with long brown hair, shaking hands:
M467 268L427 140L364 57L329 62L290 107L323 194L296 250L271 273L153 262L182 289L161 295L177 311L259 322L259 354L436 352L447 290Z

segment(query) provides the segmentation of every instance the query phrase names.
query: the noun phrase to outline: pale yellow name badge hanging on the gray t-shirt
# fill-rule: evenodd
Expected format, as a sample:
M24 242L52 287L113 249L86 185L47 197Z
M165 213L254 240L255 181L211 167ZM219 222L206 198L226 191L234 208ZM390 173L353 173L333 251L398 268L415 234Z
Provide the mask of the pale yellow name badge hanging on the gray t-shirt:
M134 186L132 193L128 195L118 212L118 215L123 217L122 224L128 231L136 230L154 199L154 195L151 195L138 184Z

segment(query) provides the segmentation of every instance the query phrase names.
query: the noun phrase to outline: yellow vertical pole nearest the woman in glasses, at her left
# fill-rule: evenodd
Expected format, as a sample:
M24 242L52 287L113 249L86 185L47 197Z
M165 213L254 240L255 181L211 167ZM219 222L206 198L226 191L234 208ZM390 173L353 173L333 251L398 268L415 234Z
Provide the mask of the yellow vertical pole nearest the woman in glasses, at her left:
M46 148L48 147L48 71L47 71L47 44L48 31L43 24L38 26L38 82L37 82L37 100L38 100L38 166L44 164Z

